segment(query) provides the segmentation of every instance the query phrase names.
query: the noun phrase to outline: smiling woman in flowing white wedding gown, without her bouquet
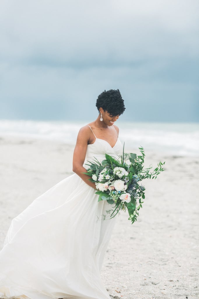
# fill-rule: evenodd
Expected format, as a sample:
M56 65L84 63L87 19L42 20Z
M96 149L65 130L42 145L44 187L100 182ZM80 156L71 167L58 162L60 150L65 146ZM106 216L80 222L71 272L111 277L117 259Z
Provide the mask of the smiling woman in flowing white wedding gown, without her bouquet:
M87 161L121 155L118 127L124 110L119 90L102 92L98 118L80 129L75 174L39 196L12 220L0 252L0 298L110 298L100 269L115 219L102 221L109 204L98 202Z

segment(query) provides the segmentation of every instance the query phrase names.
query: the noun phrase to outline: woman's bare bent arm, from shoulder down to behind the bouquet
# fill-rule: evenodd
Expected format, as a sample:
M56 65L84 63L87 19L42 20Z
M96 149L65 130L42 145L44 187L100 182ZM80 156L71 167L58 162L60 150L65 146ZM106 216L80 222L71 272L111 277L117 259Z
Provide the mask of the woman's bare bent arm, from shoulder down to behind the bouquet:
M86 157L87 145L89 140L90 132L85 127L81 128L77 136L77 142L73 153L72 171L80 176L80 178L90 187L96 189L95 183L88 181L88 179L90 179L90 176L87 176L83 173L87 172L86 168L83 167L83 164Z

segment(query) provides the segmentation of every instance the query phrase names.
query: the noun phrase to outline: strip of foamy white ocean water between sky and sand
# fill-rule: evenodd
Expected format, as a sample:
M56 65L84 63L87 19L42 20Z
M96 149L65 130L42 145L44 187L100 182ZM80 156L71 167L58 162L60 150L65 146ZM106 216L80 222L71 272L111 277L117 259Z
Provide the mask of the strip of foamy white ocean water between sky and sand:
M75 144L86 123L67 121L0 120L0 136L18 136ZM199 123L130 123L117 121L120 140L128 149L180 156L199 156Z

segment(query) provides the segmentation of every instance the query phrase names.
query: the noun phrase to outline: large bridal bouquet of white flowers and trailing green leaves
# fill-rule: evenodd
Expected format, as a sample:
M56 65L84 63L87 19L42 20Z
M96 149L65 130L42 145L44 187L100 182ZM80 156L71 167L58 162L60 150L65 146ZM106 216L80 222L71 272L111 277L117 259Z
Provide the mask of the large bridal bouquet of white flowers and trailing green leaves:
M145 199L145 187L141 184L143 179L156 179L161 171L164 171L162 162L151 172L152 166L144 168L144 149L139 147L140 155L125 154L116 159L106 154L106 159L101 163L95 159L89 162L87 175L95 182L95 192L99 195L98 202L106 200L113 208L107 212L111 213L110 218L120 211L126 209L129 213L129 220L132 223L137 221L139 209L142 208Z

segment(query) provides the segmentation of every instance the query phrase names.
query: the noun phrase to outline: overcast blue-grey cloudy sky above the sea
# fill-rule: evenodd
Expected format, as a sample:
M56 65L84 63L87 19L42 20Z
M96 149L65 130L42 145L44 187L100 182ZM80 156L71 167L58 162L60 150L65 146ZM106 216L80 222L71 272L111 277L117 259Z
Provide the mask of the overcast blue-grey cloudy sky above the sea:
M0 118L198 121L198 0L1 0Z

